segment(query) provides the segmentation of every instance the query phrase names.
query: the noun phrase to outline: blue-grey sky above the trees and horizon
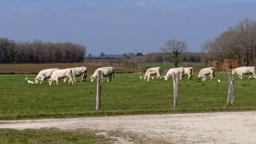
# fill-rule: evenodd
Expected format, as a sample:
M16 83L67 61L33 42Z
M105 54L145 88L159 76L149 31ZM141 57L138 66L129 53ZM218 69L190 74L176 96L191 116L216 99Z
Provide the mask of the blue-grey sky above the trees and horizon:
M72 42L92 55L160 52L174 38L201 52L245 18L256 21L256 0L0 0L0 37Z

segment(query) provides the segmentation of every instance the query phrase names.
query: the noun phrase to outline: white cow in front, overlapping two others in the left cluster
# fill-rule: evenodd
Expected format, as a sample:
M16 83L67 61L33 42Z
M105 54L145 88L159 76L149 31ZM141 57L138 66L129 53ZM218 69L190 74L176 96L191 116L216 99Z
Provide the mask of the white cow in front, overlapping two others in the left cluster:
M74 85L74 81L72 79L72 71L67 68L67 69L59 69L57 71L54 71L52 73L52 76L50 77L49 81L49 85L52 85L52 83L55 83L55 85L59 84L59 80L60 79L64 79L65 77L68 77L68 85L70 85L70 81L72 82L72 84Z

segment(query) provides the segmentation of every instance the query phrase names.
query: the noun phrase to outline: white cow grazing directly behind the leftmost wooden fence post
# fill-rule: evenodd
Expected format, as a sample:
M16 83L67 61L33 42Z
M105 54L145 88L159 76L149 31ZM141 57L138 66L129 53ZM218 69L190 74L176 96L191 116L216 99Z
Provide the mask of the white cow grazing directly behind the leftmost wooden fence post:
M103 80L103 76L107 77L109 76L109 81L111 81L112 74L113 77L115 78L114 75L114 69L112 67L103 67L103 68L97 68L93 75L91 76L91 82L94 82L94 80L98 77L98 71L101 71L101 80Z

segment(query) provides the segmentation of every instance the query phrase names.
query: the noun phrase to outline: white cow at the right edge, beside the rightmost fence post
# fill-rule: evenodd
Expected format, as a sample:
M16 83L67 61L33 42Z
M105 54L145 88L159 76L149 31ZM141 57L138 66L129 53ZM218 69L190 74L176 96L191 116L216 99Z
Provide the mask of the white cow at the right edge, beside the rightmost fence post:
M234 75L235 73L237 73L237 75L239 76L240 79L242 79L243 74L252 74L253 77L256 79L256 68L255 67L239 67L239 68L235 68L232 69L232 75ZM252 76L249 76L248 79L250 79Z

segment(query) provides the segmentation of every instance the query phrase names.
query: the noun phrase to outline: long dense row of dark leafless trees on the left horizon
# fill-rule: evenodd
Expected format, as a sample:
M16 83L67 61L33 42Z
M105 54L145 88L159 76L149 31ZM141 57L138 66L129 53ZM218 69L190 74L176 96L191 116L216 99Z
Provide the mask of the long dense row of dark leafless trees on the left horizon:
M86 46L71 42L15 42L0 38L0 63L81 62L85 54Z

